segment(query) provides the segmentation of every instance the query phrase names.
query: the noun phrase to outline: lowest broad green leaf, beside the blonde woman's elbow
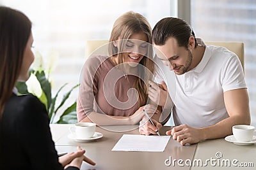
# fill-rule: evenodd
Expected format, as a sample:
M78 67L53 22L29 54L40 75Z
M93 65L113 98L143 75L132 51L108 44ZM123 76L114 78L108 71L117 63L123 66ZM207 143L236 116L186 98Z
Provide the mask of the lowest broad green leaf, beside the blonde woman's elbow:
M76 114L76 102L73 103L64 113L61 115L60 120L57 124L76 124L77 114Z

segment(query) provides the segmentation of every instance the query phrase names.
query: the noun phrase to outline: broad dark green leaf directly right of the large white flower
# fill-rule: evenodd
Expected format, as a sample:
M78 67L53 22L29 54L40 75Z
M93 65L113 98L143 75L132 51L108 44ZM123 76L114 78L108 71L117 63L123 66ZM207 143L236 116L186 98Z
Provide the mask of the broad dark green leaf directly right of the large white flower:
M49 108L51 106L52 103L52 93L51 93L51 83L49 82L49 80L47 79L47 77L45 76L44 71L36 71L36 78L37 80L40 82L40 85L42 87L42 90L47 98L47 111L49 111Z

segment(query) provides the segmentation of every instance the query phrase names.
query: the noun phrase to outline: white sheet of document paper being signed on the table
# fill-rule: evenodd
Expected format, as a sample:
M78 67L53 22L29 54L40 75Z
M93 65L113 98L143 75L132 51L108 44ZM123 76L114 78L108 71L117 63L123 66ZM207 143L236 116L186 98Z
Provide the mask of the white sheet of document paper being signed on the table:
M170 137L124 134L112 151L163 152Z

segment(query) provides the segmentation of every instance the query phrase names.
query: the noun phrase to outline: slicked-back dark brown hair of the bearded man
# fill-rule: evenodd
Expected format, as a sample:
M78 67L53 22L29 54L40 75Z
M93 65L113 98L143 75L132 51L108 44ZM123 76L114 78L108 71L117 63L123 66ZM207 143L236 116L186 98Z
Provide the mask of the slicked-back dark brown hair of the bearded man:
M153 29L153 41L156 45L164 45L170 37L175 38L179 46L188 48L189 37L195 37L191 26L180 18L167 17L159 20ZM197 46L195 38L195 48Z

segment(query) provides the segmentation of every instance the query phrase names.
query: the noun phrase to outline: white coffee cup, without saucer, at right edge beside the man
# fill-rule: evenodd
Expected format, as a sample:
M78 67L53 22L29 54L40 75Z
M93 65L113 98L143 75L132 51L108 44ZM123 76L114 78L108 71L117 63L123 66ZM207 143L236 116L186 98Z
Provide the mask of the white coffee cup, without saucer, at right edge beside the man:
M237 141L246 142L253 138L255 127L252 125L234 125L232 132Z

